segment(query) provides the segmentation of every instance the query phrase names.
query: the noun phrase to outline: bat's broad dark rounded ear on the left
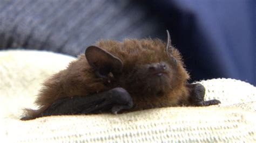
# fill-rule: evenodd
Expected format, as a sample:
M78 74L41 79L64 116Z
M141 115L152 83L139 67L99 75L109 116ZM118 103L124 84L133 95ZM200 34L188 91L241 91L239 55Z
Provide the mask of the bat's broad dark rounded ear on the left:
M99 77L107 77L122 72L123 62L113 54L97 46L89 46L85 50L85 57L89 65L96 70Z

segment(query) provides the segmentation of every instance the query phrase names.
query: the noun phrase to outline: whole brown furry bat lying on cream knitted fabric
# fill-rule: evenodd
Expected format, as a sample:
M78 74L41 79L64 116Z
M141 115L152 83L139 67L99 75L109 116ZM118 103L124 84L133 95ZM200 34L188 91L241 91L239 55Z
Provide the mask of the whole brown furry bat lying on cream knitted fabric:
M100 40L68 68L44 82L38 110L22 120L51 115L127 112L169 106L208 106L205 88L189 84L178 50L159 39Z

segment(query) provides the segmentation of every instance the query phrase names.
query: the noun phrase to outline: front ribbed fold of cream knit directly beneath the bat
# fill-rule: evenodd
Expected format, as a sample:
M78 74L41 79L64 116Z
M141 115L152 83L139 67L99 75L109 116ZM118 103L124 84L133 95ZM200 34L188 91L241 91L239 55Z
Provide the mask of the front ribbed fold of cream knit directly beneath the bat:
M219 108L161 108L123 115L2 120L10 142L254 142L255 113Z

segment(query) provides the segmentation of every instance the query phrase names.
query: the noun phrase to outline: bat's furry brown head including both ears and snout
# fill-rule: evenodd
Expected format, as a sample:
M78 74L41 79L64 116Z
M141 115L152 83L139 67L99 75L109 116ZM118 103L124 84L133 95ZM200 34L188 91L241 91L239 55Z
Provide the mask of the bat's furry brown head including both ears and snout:
M189 78L169 33L167 44L159 39L98 41L87 47L85 56L106 85L123 87L131 95L166 95L184 87Z

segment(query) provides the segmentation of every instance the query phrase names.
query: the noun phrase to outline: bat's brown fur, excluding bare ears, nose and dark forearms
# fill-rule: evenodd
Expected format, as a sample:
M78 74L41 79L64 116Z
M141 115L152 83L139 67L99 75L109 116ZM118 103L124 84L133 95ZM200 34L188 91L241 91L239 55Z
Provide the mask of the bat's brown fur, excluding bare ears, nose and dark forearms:
M177 60L177 66L174 66L165 52L166 44L159 39L126 39L123 42L101 40L96 46L122 60L122 74L108 84L103 78L95 75L85 55L81 54L68 68L45 81L36 99L39 109L27 109L26 116L36 117L60 98L86 96L115 87L122 87L130 93L134 103L132 111L177 106L181 101L188 100L189 93L185 84L189 75L177 49L171 51ZM145 75L144 65L161 61L168 63L169 70L163 83L150 77L142 78ZM154 92L158 90L162 92Z

